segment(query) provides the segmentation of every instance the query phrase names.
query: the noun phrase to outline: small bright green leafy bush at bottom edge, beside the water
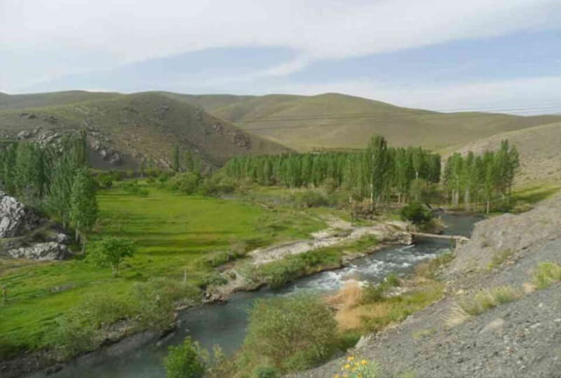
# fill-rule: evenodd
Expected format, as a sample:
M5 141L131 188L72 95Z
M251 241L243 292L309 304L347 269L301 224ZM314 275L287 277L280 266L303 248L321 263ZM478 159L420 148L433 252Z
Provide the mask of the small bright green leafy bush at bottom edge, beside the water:
M177 347L171 346L164 359L167 378L202 378L205 374L205 361L201 349L190 338L183 340Z

